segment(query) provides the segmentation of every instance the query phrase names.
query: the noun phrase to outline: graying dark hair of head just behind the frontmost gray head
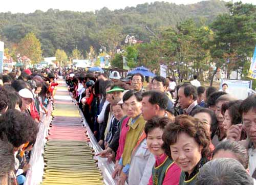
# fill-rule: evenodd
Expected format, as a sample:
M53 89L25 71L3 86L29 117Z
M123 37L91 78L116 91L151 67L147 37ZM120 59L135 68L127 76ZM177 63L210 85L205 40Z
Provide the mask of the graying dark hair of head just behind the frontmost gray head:
M219 143L216 146L216 148L214 149L214 152L212 153L212 156L214 156L220 150L232 152L234 155L236 155L238 161L244 166L244 168L245 169L248 168L249 155L248 155L247 149L244 148L238 142L231 141L231 140L226 140L226 141L223 141L223 142Z

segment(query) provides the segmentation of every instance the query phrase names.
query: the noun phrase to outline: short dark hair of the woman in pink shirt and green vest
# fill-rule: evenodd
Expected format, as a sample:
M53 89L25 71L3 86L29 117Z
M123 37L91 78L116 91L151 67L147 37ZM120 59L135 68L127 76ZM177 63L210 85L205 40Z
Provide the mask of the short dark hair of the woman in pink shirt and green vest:
M159 116L154 116L150 120L147 120L144 128L146 136L155 128L160 128L161 130L164 130L165 126L168 125L170 122L171 120L168 117Z

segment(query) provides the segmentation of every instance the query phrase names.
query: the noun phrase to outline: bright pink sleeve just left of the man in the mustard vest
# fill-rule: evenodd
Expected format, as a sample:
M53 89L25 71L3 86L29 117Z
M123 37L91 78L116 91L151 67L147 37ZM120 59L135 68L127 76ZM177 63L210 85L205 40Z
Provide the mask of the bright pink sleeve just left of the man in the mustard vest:
M118 146L118 149L116 152L116 160L120 160L120 158L123 154L125 138L126 138L126 134L127 134L128 130L129 130L129 126L127 125L129 119L130 119L129 117L125 118L121 125L120 136L119 136L119 146Z

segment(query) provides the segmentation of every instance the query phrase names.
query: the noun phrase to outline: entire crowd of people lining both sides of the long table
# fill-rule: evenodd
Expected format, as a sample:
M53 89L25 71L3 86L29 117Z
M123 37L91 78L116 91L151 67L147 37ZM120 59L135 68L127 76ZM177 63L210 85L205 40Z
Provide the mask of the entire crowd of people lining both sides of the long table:
M114 162L119 185L256 184L255 95L237 100L226 84L205 88L197 76L182 84L155 76L144 86L139 73L125 81L117 71L29 72L0 78L2 181L10 171L25 177L24 166L19 174L10 164L19 156L28 156L28 164L38 123L58 85L54 79L62 75L102 148L97 155Z

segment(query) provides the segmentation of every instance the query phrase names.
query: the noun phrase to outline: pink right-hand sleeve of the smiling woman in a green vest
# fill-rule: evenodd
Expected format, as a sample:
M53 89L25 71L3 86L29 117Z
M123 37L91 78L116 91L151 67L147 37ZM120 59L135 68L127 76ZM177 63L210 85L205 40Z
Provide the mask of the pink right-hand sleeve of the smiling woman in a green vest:
M166 172L162 185L179 185L181 169L173 164Z

